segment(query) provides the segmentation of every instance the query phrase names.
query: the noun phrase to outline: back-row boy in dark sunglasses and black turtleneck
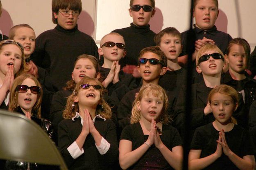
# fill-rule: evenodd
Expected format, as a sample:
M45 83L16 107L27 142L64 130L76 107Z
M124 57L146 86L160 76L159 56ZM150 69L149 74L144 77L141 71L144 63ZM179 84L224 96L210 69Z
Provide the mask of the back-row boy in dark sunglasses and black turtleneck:
M126 65L138 65L140 50L156 45L154 36L150 30L150 18L155 14L155 0L130 0L129 14L133 19L130 27L116 29L124 37L127 55L119 62L121 67ZM136 67L135 67L136 69Z

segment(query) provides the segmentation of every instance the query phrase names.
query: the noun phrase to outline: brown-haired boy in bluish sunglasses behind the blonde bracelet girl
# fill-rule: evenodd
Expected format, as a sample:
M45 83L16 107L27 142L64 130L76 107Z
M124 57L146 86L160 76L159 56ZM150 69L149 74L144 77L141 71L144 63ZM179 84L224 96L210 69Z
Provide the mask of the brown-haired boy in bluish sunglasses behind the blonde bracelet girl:
M142 78L142 86L147 84L158 84L160 76L166 72L167 58L158 46L146 47L140 51L137 66L138 72ZM119 130L130 124L131 109L133 102L140 87L131 90L120 101L118 106L118 123ZM176 98L172 92L166 91L168 95L168 114L172 117L172 111Z

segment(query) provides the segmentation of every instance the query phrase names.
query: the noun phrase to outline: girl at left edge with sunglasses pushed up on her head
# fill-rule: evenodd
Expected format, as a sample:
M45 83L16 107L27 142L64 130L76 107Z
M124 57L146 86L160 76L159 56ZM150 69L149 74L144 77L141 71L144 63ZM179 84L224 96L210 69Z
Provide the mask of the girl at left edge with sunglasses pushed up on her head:
M14 78L29 70L23 46L14 40L0 42L0 108L8 109L9 90Z

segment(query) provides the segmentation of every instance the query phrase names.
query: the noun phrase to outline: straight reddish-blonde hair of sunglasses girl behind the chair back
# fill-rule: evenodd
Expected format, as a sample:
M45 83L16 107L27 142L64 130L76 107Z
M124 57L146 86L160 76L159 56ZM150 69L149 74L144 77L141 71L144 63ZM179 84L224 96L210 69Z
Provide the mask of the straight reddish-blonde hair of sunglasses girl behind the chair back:
M20 76L15 78L14 84L12 85L11 90L10 90L9 111L11 111L11 112L17 111L17 109L18 109L18 95L19 95L19 92L16 91L16 87L18 85L21 85L22 82L26 78L32 79L36 83L36 86L41 87L41 84L39 83L39 81L34 76L32 76L31 74L21 74ZM32 107L32 113L31 114L32 115L36 114L36 116L38 118L41 118L41 103L42 103L42 96L43 96L42 87L41 87L41 93L36 94L36 96L37 96L36 97L36 103Z

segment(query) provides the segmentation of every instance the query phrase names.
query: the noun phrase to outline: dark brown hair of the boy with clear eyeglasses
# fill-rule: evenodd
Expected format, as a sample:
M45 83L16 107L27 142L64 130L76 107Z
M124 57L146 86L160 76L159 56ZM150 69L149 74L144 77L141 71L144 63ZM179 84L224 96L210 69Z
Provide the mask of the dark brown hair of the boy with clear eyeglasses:
M81 0L52 0L52 22L58 23L58 20L54 18L54 13L59 13L59 9L71 9L73 11L82 11Z

